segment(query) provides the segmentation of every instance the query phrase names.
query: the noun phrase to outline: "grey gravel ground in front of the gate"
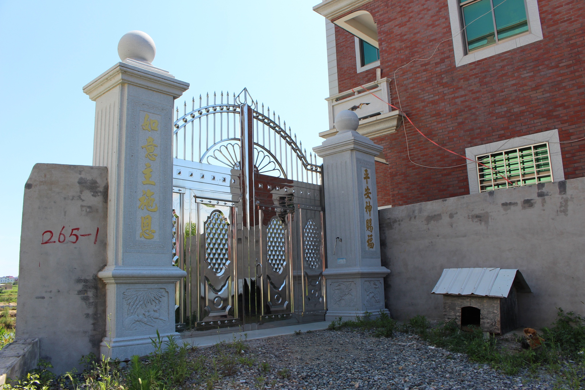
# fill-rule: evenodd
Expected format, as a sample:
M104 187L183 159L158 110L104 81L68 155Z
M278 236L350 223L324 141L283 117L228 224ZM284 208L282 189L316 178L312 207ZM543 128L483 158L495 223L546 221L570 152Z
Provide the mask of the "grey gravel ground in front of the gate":
M553 389L555 378L542 372L535 377L500 374L488 365L474 364L463 354L428 346L418 336L395 333L393 339L375 338L347 330L247 341L243 356L252 367L215 382L214 389ZM217 348L201 348L191 357L211 360ZM266 361L270 370L259 365ZM287 368L289 378L278 371ZM264 376L264 382L261 381ZM260 378L260 379L259 379ZM194 381L184 388L201 388ZM562 387L561 387L562 388Z

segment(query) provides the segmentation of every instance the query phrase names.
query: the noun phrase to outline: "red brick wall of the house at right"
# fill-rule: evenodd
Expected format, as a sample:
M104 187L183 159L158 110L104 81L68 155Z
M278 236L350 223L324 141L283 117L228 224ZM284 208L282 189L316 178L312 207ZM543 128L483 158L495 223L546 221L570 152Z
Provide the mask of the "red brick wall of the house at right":
M445 0L374 0L369 11L378 26L382 76L413 58L428 57L451 37ZM357 11L357 9L353 10ZM353 12L352 11L352 12ZM559 129L560 141L585 137L585 2L539 1L544 39L461 67L451 40L429 61L415 61L396 74L391 96L428 137L465 155L465 148ZM356 73L353 36L336 27L339 91L374 81L376 70ZM407 205L469 194L466 160L404 130L377 137L390 165L376 164L378 205ZM562 143L565 178L585 174L585 140Z

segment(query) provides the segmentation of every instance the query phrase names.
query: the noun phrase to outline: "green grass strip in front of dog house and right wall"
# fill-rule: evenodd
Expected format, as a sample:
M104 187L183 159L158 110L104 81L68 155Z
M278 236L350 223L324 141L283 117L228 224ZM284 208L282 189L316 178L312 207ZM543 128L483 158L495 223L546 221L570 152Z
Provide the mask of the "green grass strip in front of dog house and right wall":
M555 389L577 390L585 384L585 317L560 308L552 326L542 329L542 346L536 350L510 351L494 335L486 337L477 327L464 332L455 321L431 329L431 322L422 315L401 325L384 313L376 318L366 313L347 321L339 317L329 329L370 330L377 337L392 337L395 330L418 334L433 346L466 354L469 360L489 364L507 375L518 374L523 368L532 373L542 368L556 374Z

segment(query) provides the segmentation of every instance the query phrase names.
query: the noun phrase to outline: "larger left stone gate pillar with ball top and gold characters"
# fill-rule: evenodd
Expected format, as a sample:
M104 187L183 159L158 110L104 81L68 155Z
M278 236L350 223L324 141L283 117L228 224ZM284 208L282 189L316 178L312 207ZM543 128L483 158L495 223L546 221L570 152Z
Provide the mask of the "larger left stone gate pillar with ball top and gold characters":
M152 352L150 337L175 333L172 265L173 103L189 84L154 67L146 33L122 37L113 65L83 91L95 101L94 165L108 167L106 337L112 358Z

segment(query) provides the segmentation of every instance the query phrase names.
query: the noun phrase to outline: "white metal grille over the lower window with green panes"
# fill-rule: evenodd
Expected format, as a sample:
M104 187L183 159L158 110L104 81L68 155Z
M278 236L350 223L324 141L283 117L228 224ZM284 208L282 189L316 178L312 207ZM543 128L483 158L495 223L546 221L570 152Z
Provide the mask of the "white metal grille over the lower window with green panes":
M480 192L553 181L548 142L483 154L476 160Z

